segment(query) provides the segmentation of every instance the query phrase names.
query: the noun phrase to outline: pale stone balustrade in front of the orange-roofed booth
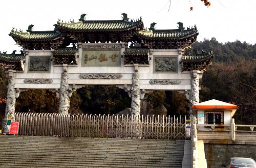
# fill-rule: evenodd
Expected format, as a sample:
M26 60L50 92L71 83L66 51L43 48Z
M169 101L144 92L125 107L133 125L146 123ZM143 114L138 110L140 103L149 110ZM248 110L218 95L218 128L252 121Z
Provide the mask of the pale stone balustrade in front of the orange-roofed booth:
M255 129L256 125L235 124L234 119L231 119L228 125L197 124L197 138L198 140L256 141Z

